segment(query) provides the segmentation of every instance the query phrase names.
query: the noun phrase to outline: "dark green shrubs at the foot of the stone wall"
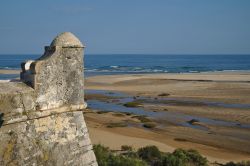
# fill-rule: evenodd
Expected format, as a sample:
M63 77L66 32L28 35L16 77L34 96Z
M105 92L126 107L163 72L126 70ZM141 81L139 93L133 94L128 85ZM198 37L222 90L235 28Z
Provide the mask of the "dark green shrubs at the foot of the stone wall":
M176 149L173 153L159 151L156 146L146 146L133 151L132 147L123 145L126 153L112 152L102 145L94 145L94 152L99 166L207 166L208 161L196 150ZM247 163L247 162L245 162ZM231 163L234 164L234 163ZM248 165L226 165L248 166Z

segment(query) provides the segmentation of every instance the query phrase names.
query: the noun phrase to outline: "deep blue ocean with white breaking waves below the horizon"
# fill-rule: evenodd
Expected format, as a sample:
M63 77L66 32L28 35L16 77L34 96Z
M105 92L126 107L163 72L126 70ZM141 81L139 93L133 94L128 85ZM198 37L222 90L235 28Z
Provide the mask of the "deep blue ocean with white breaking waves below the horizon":
M0 55L0 69L20 69L20 63L40 55ZM85 75L138 73L199 73L250 70L250 55L87 54ZM0 79L16 75L0 75Z

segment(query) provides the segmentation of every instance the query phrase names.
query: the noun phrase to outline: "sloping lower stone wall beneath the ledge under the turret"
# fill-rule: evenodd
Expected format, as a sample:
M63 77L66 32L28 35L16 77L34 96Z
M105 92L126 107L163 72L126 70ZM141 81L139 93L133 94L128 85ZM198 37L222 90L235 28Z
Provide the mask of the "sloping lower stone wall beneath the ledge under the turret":
M4 126L0 140L0 165L96 164L81 111Z

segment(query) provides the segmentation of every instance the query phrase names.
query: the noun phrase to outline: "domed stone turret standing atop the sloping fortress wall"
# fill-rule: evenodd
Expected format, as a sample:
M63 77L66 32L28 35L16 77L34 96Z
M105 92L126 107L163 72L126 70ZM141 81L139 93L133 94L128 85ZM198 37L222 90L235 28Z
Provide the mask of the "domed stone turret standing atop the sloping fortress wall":
M83 45L69 32L58 35L41 58L22 64L21 79L35 89L41 110L84 104Z

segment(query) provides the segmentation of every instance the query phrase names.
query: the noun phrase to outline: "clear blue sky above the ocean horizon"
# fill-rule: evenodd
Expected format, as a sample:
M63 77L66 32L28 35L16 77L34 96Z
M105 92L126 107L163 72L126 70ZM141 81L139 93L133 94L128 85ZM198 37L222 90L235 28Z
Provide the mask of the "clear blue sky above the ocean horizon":
M89 54L250 54L250 0L6 0L0 54L71 31Z

